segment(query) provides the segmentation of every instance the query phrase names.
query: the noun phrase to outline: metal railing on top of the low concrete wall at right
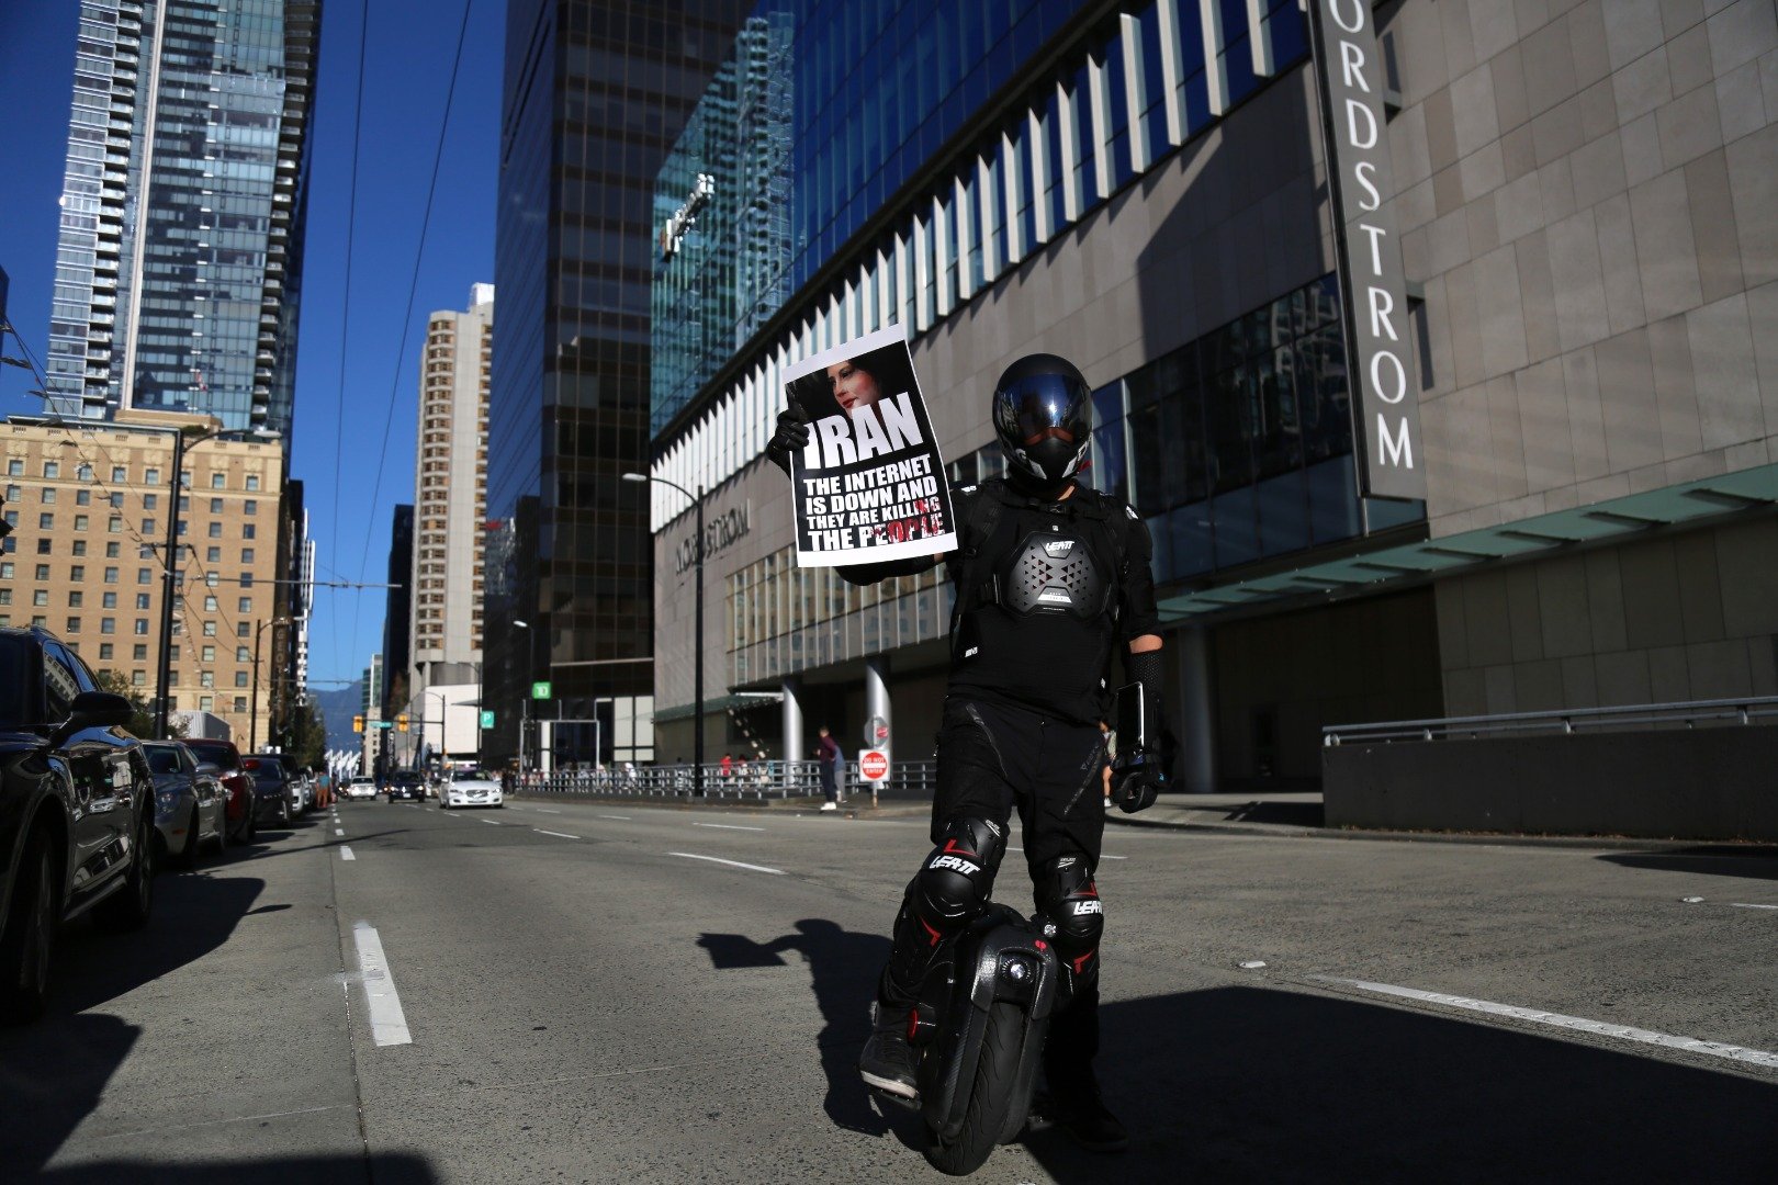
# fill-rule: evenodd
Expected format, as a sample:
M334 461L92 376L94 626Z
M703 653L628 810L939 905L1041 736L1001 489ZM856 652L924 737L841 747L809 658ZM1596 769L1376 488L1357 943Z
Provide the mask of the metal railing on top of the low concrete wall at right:
M1625 728L1696 728L1755 725L1778 720L1778 696L1744 700L1687 700L1680 704L1625 704L1620 707L1565 707L1547 712L1502 712L1499 716L1446 716L1442 720L1394 720L1373 725L1328 725L1321 744L1355 741L1474 741L1488 736L1556 732L1614 732Z

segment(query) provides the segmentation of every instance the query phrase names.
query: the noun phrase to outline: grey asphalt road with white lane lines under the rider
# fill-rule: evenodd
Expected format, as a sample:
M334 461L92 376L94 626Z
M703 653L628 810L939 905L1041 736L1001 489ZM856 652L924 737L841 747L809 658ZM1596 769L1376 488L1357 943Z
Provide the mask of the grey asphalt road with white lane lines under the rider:
M852 1071L925 851L919 819L340 805L164 876L140 934L64 933L50 1016L0 1030L0 1178L937 1180ZM1773 1180L1778 860L1106 853L1131 1151L1035 1132L980 1180Z

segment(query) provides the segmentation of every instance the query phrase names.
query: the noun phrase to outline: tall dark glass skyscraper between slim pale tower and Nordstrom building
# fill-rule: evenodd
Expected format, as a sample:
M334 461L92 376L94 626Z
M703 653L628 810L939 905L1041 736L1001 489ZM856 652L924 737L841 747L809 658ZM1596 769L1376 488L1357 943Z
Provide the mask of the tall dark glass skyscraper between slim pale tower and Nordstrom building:
M569 718L633 720L653 688L649 503L622 474L647 469L654 179L743 11L738 0L509 4L489 391L489 755L517 750L532 682L549 680L546 711ZM610 748L613 728L605 732ZM615 732L622 741L621 723Z

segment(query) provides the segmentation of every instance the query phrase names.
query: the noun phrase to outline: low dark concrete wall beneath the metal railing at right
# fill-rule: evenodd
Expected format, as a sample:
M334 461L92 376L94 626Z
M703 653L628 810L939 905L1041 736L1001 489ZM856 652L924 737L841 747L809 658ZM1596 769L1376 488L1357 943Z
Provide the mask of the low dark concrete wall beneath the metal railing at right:
M1778 840L1778 728L1323 750L1328 826Z

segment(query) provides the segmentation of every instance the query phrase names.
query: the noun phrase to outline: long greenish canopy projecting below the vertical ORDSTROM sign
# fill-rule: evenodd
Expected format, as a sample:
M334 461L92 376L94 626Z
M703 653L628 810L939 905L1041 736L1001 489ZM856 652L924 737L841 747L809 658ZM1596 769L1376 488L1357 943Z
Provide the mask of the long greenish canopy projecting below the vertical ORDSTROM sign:
M1289 572L1268 572L1246 581L1163 597L1161 622L1172 625L1316 593L1387 592L1396 585L1430 576L1556 554L1582 544L1629 540L1659 528L1721 519L1737 512L1757 513L1774 505L1778 505L1778 465L1757 465L1646 494L1629 494L1574 510L1556 510L1501 526L1380 547Z

